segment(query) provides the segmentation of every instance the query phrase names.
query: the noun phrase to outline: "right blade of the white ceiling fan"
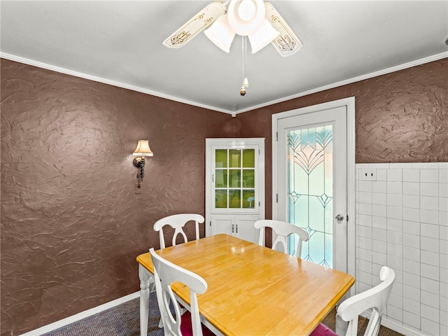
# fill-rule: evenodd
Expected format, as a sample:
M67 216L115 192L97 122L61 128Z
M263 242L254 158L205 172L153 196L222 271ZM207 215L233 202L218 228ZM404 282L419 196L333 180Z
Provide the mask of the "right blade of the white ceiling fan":
M279 31L280 34L271 42L279 54L287 57L295 54L302 48L302 42L299 40L294 31L286 24L285 20L281 18L279 12L276 11L271 3L265 2L266 18L272 24L272 27Z

